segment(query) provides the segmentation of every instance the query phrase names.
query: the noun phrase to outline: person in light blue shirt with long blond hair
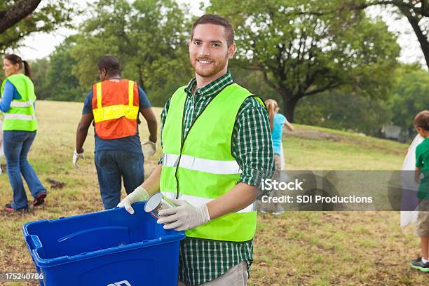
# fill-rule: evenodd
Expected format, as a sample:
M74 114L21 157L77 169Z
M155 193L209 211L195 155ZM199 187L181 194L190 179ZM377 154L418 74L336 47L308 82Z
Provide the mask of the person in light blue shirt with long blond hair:
M278 107L278 103L275 100L266 100L265 105L266 109L268 110L271 136L273 137L273 153L275 164L273 180L280 182L280 171L285 168L285 155L283 154L282 146L283 129L287 128L287 130L293 131L294 128L289 123L289 121L287 121L285 116L278 113L278 111L280 111L280 107ZM271 196L280 197L280 191L274 190L271 193ZM271 212L272 214L281 214L282 212L285 212L281 203L264 203L259 200L258 204L259 211L261 212Z

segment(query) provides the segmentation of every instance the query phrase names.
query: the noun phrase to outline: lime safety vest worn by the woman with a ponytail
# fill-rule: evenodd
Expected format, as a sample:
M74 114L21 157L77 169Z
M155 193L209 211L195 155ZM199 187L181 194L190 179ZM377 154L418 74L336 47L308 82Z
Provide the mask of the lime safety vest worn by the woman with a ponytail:
M35 131L37 130L36 113L34 102L36 94L31 79L25 74L13 74L8 76L1 83L1 95L3 95L4 85L10 81L21 95L20 100L13 99L11 108L4 113L3 130Z

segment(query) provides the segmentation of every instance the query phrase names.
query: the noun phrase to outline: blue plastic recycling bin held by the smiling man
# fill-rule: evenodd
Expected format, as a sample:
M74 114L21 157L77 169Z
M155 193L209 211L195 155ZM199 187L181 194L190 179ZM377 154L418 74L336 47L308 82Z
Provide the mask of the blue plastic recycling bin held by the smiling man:
M29 222L25 242L42 286L175 286L183 231L165 230L144 203Z

